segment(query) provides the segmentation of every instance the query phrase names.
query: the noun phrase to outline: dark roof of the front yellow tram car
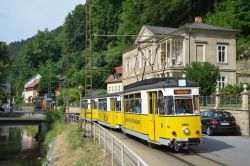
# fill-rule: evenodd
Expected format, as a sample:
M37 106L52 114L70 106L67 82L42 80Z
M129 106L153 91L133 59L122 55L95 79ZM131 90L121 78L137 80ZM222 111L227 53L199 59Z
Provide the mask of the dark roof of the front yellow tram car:
M156 89L156 88L199 87L197 83L187 80L186 80L186 86L180 86L178 80L186 80L186 79L177 77L146 79L124 86L124 93L129 93L139 90Z

